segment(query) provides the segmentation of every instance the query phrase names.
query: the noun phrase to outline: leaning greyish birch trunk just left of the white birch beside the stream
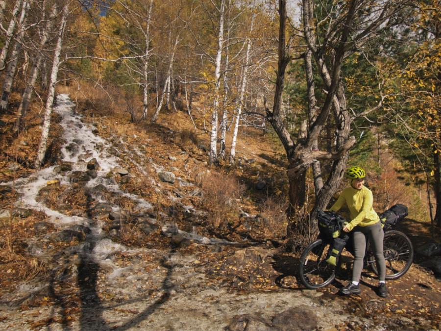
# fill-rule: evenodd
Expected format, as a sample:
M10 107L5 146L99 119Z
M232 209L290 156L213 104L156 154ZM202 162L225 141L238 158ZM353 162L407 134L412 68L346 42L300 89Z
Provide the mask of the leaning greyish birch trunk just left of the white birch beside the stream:
M31 69L31 74L29 76L29 80L26 84L25 91L23 92L22 101L20 102L20 105L17 109L17 120L15 122L15 128L14 130L18 132L20 130L21 126L21 119L23 116L25 116L27 109L29 108L29 104L32 98L32 91L35 86L35 82L37 81L38 75L40 73L40 66L43 60L43 49L46 45L46 43L49 40L49 32L52 29L53 26L53 20L58 14L58 5L54 3L52 7L52 13L49 16L49 20L46 22L46 25L44 27L42 37L40 40L40 45L38 48L37 57L34 61L34 64Z

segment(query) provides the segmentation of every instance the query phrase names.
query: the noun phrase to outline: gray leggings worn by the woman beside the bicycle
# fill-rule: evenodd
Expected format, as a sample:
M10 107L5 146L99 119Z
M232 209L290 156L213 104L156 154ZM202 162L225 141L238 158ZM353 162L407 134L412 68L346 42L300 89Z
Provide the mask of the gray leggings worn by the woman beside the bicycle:
M360 281L363 270L363 258L366 251L366 237L369 239L370 247L375 256L378 269L379 281L384 281L386 274L386 261L383 255L384 232L381 222L377 222L367 227L357 226L354 228L354 267L352 269L352 281Z

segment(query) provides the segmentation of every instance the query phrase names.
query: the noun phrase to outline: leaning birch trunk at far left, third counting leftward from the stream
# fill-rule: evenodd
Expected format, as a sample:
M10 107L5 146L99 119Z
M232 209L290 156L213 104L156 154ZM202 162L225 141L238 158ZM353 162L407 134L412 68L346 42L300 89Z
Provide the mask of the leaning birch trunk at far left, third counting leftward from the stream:
M7 69L3 81L3 87L1 89L0 113L4 113L8 109L9 94L11 93L12 83L14 82L19 54L20 51L22 50L23 35L25 33L23 27L26 24L26 20L27 20L26 16L29 7L30 7L30 3L25 1L23 3L22 15L21 15L21 18L23 18L23 20L21 19L21 22L19 24L19 29L21 29L21 31L18 33L14 47L12 48L11 57L7 65Z

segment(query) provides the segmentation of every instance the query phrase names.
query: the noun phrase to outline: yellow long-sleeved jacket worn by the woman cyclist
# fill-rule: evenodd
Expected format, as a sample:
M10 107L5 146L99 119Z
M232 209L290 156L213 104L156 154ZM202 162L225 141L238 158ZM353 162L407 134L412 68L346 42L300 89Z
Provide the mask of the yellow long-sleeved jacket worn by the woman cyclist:
M346 225L346 228L350 230L354 229L357 225L361 227L367 227L380 221L378 214L373 210L372 203L372 191L366 186L363 186L361 190L357 190L353 187L346 187L340 194L339 199L329 209L331 211L338 211L343 204L346 203L351 213L351 222Z

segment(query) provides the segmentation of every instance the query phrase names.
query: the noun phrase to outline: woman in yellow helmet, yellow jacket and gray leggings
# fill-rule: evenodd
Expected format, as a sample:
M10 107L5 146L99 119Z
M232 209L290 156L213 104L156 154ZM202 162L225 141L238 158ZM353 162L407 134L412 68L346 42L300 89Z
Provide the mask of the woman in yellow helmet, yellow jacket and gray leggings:
M386 298L385 275L386 262L383 255L384 232L380 218L372 207L372 192L364 186L366 173L360 167L350 167L345 172L345 177L350 179L350 187L346 187L340 194L339 199L329 209L338 211L344 203L347 204L351 221L343 228L344 232L353 233L354 242L354 265L352 269L352 282L340 289L340 293L350 295L360 293L360 276L363 269L363 259L366 252L366 237L372 246L375 262L378 268L379 284L377 294Z

